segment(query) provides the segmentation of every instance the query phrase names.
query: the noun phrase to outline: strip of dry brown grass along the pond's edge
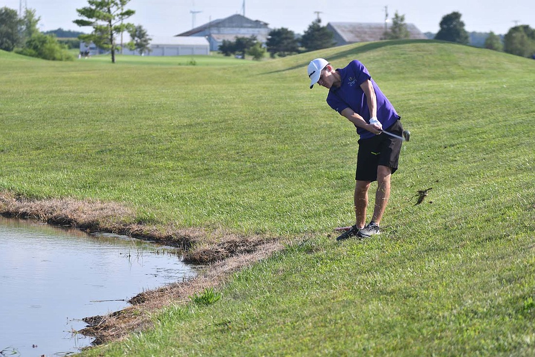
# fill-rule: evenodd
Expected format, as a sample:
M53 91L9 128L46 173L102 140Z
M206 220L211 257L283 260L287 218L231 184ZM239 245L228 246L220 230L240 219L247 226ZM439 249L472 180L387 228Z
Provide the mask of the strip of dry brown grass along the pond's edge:
M151 314L170 304L187 303L205 288L224 284L230 274L282 249L280 239L244 236L222 229L147 226L134 221L133 210L117 203L97 200L29 199L0 192L0 214L31 218L49 224L70 225L86 232L128 235L181 248L187 263L207 264L195 278L153 291L142 292L123 310L106 316L87 317L87 328L79 331L95 337L94 344L120 339L129 332L151 326Z

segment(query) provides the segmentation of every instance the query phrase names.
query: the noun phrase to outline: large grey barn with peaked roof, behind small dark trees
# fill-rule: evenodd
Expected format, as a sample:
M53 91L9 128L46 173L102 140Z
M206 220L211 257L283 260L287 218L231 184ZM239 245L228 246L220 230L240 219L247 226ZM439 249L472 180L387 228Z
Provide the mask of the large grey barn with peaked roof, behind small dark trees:
M234 41L236 37L256 36L261 43L268 41L271 29L267 23L251 20L240 14L210 21L208 24L182 32L177 36L203 37L210 42L210 50L217 51L223 40Z

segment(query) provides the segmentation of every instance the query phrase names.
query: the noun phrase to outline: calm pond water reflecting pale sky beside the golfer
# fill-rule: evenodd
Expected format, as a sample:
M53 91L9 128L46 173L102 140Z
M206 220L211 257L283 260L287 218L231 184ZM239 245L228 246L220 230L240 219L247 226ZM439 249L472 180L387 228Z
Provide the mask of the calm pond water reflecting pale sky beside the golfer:
M80 352L82 318L194 275L171 247L0 216L0 356Z

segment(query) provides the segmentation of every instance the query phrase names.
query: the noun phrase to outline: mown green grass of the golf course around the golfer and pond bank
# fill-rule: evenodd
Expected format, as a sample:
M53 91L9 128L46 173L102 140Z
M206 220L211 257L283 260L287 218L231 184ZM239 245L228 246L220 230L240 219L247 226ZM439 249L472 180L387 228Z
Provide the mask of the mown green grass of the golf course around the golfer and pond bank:
M362 243L325 234L352 219L357 138L308 90L316 55L364 62L412 132L385 232ZM535 352L535 61L430 41L226 68L0 61L0 189L314 233L106 355Z

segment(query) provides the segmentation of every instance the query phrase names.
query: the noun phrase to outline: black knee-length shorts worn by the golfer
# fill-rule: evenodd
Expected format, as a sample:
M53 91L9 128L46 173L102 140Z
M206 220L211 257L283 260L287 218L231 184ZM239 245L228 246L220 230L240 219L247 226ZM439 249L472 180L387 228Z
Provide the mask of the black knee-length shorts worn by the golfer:
M391 127L385 129L395 135L402 136L403 125L396 120ZM369 139L358 140L357 171L355 180L377 181L377 166L392 168L392 173L398 169L402 140L385 133L380 133Z

